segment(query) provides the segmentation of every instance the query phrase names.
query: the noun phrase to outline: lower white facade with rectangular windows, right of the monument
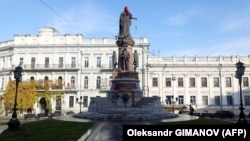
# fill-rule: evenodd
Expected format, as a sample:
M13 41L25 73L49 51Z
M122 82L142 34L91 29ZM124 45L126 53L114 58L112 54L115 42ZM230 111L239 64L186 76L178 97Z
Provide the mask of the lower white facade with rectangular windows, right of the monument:
M165 106L193 104L200 111L238 110L240 89L235 64L239 60L246 67L242 98L249 111L250 56L149 56L148 96L160 96Z

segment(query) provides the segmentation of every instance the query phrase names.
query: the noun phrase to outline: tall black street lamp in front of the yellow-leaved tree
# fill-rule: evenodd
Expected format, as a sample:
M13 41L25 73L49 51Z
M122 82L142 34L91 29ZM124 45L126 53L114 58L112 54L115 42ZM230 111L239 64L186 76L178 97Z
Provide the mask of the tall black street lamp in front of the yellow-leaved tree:
M9 130L17 130L20 122L17 119L17 89L18 89L18 83L21 81L22 78L22 67L18 66L14 70L14 78L16 79L16 95L15 95L15 103L14 103L14 108L13 108L13 113L12 113L12 118L9 120L8 124L8 129Z

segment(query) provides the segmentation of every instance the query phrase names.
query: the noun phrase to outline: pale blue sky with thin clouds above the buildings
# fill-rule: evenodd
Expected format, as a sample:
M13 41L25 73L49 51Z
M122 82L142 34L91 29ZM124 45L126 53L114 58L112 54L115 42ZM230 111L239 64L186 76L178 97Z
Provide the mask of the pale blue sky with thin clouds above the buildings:
M151 55L250 55L250 0L1 0L0 42L45 26L115 38L125 6L137 18L131 36L147 37Z

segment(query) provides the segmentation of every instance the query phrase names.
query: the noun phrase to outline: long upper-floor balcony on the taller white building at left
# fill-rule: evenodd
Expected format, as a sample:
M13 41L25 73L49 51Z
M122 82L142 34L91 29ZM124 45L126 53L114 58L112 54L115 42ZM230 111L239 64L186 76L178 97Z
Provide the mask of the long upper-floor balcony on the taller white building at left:
M78 64L25 64L25 70L79 70Z

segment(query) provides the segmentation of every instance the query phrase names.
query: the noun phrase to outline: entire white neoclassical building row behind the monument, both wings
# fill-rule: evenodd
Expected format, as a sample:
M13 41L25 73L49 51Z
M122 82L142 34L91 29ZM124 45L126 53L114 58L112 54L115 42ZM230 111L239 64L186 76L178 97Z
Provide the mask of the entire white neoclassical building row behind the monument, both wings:
M147 37L134 41L143 96L159 96L165 107L193 104L201 111L237 111L240 96L235 64L240 60L246 66L243 105L250 110L250 56L153 56L148 53ZM21 65L23 81L32 79L43 84L49 80L50 91L63 91L51 99L53 111L87 110L91 97L108 96L113 51L118 52L115 38L61 35L53 27L40 28L37 35L14 35L13 40L0 42L0 96L9 79L14 79L14 68ZM33 107L35 113L44 111L41 99L38 97ZM3 103L0 98L0 115L5 111Z

